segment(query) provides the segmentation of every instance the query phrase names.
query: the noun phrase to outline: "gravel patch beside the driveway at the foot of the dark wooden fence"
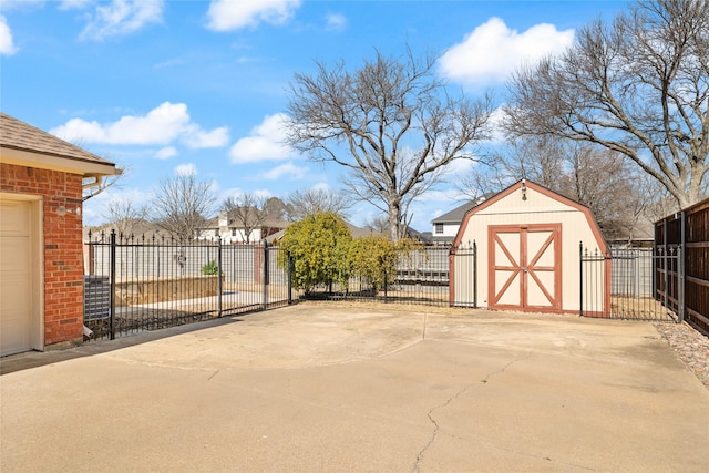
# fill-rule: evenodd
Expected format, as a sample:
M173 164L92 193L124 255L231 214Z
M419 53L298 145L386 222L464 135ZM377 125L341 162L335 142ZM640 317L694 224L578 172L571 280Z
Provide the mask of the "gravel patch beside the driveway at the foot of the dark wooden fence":
M687 322L655 323L655 328L709 390L709 337Z

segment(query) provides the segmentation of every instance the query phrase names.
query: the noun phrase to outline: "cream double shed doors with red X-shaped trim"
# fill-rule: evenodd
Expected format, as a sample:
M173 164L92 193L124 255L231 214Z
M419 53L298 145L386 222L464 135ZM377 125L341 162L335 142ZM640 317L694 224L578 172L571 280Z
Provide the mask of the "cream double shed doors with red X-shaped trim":
M489 228L487 300L492 309L562 310L562 225Z

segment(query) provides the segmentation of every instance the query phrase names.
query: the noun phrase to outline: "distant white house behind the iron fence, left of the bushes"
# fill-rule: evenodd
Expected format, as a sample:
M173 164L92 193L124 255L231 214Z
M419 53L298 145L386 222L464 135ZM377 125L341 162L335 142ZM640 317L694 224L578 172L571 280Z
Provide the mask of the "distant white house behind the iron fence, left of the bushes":
M286 220L266 218L264 222L254 219L249 223L249 228L247 228L239 218L235 218L234 215L227 215L226 212L220 212L217 217L207 220L205 228L199 234L199 239L210 240L216 239L218 236L222 243L227 245L246 243L247 239L254 244L264 239L268 240L268 237L287 228L288 225L290 224Z

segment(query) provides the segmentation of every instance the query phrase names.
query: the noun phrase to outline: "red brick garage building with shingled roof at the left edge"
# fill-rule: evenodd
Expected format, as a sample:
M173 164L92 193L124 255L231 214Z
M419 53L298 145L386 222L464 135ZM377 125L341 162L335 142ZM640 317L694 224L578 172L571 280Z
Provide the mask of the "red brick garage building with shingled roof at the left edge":
M117 173L0 113L0 354L83 341L82 191Z

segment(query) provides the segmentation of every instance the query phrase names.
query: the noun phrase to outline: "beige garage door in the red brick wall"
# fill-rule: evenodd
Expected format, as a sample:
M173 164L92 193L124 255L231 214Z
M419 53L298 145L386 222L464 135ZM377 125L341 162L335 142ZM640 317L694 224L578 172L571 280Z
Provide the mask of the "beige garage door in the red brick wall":
M0 354L31 349L31 203L0 203Z

